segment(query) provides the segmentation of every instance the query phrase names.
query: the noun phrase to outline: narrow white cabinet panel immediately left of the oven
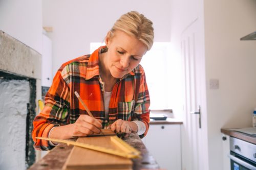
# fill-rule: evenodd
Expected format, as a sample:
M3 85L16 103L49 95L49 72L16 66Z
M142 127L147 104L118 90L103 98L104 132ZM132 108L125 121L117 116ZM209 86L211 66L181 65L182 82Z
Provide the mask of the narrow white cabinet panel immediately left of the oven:
M229 151L229 135L222 133L222 169L230 169Z

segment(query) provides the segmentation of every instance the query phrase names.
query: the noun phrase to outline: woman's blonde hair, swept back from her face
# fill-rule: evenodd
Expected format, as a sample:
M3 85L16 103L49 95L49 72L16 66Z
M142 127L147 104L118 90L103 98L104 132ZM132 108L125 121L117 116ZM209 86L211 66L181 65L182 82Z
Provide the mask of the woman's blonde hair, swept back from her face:
M147 19L143 14L137 11L131 11L123 14L115 23L107 36L113 38L115 31L123 31L124 33L136 37L146 45L147 51L151 49L154 42L153 22Z

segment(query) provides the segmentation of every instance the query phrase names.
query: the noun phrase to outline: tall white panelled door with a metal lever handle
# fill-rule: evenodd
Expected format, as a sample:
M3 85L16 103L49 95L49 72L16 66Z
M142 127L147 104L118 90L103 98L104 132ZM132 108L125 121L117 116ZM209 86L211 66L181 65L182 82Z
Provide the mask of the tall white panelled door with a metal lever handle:
M184 126L182 129L182 169L207 170L207 118L203 27L196 19L181 35L184 75ZM192 113L191 113L192 112Z

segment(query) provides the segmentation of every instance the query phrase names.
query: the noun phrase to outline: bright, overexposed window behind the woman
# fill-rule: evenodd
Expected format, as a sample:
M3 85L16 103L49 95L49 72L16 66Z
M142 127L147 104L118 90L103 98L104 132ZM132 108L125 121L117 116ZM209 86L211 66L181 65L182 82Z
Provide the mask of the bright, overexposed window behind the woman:
M91 43L91 53L103 43ZM181 102L181 62L170 53L170 42L154 42L140 62L150 91L151 110L174 109Z

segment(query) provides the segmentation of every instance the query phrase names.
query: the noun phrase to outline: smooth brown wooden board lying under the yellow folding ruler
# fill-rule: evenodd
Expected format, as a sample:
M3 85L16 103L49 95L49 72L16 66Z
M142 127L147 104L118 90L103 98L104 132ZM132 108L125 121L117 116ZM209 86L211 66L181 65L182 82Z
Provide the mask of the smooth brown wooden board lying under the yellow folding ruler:
M110 137L111 136L79 137L77 142L120 150L113 142L111 142ZM120 150L120 152L122 151ZM128 158L75 146L63 169L132 169L132 165L132 161Z

